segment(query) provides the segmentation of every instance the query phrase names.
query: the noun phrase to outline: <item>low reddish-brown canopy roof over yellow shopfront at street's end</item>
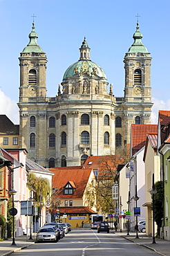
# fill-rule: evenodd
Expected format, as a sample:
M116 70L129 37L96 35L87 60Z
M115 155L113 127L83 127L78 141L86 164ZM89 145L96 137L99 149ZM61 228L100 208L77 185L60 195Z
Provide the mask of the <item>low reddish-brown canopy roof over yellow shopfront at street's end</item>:
M57 209L54 210L54 213L57 212ZM70 214L70 213L75 213L75 214L80 214L80 213L97 213L94 212L93 210L91 210L88 207L84 207L84 206L77 206L77 207L59 207L59 212L60 213L66 213L66 214Z

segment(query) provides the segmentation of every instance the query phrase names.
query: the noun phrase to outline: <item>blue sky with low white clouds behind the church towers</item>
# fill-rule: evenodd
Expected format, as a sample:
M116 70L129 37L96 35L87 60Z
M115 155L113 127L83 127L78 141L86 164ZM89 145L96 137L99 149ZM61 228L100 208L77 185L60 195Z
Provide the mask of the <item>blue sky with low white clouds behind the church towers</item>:
M0 113L19 123L18 57L29 42L33 14L38 43L48 57L48 96L57 94L64 71L79 60L84 35L91 48L91 60L104 69L109 84L113 83L114 94L123 96L124 54L133 43L135 16L139 14L142 42L153 57L152 122L157 123L158 109L170 109L169 7L167 0L0 0Z

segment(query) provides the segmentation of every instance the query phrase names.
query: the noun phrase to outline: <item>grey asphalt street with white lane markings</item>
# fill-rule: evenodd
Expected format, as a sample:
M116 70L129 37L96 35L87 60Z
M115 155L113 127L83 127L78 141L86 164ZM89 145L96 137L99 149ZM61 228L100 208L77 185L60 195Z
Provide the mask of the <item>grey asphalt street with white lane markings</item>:
M97 233L97 230L72 230L64 239L57 243L32 244L17 253L14 256L39 256L39 255L57 255L57 256L93 256L93 255L158 255L152 250L134 244L110 232Z

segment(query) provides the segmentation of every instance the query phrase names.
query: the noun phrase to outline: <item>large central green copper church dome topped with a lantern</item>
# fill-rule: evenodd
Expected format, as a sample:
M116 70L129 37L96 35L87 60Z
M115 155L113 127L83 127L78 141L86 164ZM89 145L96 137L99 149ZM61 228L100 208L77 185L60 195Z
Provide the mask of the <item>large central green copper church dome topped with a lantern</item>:
M99 77L103 77L107 81L104 70L95 62L90 60L90 48L84 37L81 48L79 48L80 57L79 61L70 65L64 73L63 82L67 82L67 77L72 77L75 74L81 75L82 73L88 73L88 75L95 74Z

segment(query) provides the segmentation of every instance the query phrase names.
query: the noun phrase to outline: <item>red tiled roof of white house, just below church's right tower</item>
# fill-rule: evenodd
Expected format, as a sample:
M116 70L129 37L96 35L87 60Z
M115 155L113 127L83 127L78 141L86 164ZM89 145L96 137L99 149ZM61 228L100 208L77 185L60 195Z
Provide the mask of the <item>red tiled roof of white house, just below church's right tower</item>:
M158 125L131 125L132 156L146 143L147 134L157 133Z

